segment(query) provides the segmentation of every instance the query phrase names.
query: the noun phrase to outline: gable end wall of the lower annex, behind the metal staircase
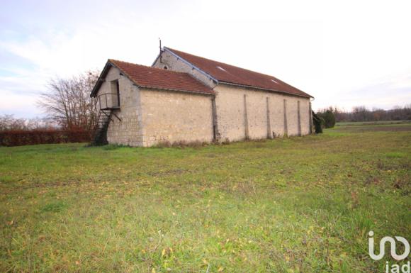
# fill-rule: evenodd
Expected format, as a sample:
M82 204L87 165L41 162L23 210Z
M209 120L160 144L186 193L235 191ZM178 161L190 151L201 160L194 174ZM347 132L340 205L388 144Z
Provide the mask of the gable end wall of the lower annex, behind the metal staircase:
M114 113L116 113L121 121L113 116L112 121L108 125L108 143L141 146L143 138L140 90L130 79L120 75L119 69L111 67L106 76L106 81L101 84L97 95L113 93L111 90L111 81L113 80L118 80L120 90L120 109L114 111ZM103 97L101 100L103 101ZM102 104L105 104L105 102L102 102ZM108 101L108 104L110 104L110 101Z

